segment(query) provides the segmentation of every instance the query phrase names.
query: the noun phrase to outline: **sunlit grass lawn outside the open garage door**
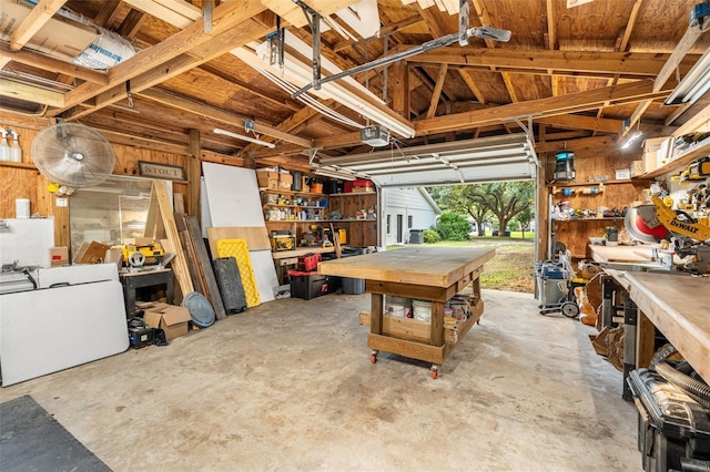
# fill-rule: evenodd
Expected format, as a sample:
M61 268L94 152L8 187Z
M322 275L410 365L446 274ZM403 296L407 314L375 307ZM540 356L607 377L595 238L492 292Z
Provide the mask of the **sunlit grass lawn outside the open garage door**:
M511 237L475 236L469 240L443 240L424 246L491 247L496 256L486 263L480 276L480 286L495 290L532 294L535 291L535 240L534 233L511 234ZM403 246L392 246L394 249Z

